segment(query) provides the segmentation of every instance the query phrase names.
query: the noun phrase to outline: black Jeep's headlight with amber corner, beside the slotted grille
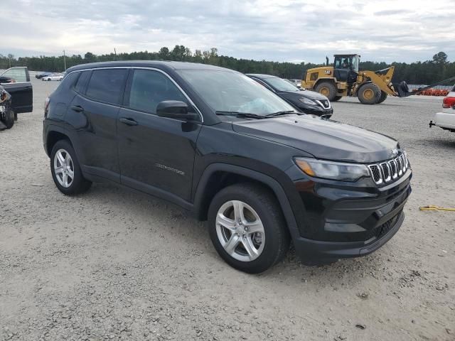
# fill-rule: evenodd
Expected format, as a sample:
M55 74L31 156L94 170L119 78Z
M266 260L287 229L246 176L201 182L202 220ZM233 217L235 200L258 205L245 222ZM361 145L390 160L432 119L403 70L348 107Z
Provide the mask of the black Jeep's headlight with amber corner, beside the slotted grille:
M316 178L357 181L370 176L367 166L356 163L322 161L315 158L295 158L294 160L301 171Z

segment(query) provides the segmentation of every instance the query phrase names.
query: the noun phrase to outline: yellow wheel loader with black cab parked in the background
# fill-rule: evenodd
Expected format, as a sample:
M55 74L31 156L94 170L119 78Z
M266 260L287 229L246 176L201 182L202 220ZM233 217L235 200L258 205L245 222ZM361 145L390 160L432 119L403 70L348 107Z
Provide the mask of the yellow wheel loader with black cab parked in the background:
M406 97L410 92L405 82L392 84L395 67L379 71L360 71L360 55L334 55L333 66L306 70L301 87L325 95L330 101L343 96L358 97L363 104L378 104L387 96Z

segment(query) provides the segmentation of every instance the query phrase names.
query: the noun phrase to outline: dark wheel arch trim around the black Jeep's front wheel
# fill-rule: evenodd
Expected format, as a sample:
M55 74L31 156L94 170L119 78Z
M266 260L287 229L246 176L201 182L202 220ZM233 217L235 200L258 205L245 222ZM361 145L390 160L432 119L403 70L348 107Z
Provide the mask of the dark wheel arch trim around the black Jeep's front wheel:
M207 220L208 207L216 193L229 185L239 182L257 183L267 188L279 203L291 237L299 236L294 212L282 185L269 175L253 171L250 168L233 166L227 163L210 164L210 166L205 168L203 175L200 177L193 201L194 210L198 219Z

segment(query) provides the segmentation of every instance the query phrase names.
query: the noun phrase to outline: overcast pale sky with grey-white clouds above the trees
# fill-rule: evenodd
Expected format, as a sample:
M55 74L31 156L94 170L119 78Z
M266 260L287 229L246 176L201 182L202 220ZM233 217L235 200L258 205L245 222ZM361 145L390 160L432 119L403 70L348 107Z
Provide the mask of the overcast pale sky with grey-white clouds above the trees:
M84 55L185 45L255 60L334 53L455 60L455 0L0 0L0 53Z

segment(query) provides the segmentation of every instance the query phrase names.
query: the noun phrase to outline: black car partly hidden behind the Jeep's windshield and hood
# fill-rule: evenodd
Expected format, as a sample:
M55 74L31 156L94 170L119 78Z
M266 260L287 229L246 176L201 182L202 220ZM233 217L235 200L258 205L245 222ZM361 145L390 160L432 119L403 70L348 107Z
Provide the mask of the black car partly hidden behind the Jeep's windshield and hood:
M333 114L330 101L319 92L300 90L290 82L272 75L247 74L247 76L275 92L305 114L323 116L326 119Z

